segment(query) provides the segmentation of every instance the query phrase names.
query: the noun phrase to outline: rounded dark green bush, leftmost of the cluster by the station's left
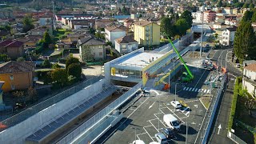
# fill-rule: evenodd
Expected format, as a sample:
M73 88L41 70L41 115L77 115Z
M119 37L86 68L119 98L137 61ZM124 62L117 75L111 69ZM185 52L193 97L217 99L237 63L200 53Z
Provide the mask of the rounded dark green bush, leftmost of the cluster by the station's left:
M50 75L54 84L57 84L58 86L65 86L68 80L65 69L55 69L51 72Z

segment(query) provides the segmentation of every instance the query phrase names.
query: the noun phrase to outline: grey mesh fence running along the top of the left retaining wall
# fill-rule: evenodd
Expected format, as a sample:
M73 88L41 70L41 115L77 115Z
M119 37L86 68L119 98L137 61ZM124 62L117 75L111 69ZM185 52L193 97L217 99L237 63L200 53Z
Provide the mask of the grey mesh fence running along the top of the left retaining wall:
M49 98L43 102L40 102L35 106L29 107L26 110L23 110L21 113L15 114L14 116L3 120L2 122L0 122L1 125L3 126L3 128L0 128L0 132L2 130L8 129L11 126L17 125L19 122L22 122L27 118L30 118L34 114L37 114L39 111L54 105L54 103L60 102L63 99L69 97L70 95L77 93L78 91L82 90L86 86L90 86L95 82L98 82L102 78L103 78L102 76L98 76L97 78L90 78L87 81L78 84L77 86L71 87L69 90L65 90L60 94L56 94L52 98Z

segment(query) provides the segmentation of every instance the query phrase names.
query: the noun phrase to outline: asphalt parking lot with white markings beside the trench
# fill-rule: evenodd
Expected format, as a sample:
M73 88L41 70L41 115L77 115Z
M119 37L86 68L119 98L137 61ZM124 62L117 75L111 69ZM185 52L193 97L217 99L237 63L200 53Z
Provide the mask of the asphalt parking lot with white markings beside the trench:
M132 143L135 138L145 143L157 142L155 134L165 128L163 116L172 114L181 122L181 130L169 143L199 143L201 141L202 124L206 118L206 108L199 101L205 94L215 95L204 82L214 71L190 67L194 81L178 83L176 101L182 103L181 109L175 109L170 103L175 99L175 86L171 86L170 94L162 90L150 90L150 94L138 99L124 112L125 118L106 132L97 143ZM175 82L177 83L177 82Z

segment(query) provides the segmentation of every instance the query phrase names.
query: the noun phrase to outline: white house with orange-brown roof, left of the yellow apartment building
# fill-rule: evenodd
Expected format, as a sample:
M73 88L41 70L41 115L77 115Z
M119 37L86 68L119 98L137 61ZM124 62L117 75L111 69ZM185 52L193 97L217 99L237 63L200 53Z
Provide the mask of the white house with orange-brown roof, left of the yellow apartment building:
M128 28L126 28L126 26L122 26L122 25L107 26L105 28L105 33L106 33L105 38L107 41L112 42L112 44L114 45L115 44L114 40L117 38L126 36L127 31L128 31Z

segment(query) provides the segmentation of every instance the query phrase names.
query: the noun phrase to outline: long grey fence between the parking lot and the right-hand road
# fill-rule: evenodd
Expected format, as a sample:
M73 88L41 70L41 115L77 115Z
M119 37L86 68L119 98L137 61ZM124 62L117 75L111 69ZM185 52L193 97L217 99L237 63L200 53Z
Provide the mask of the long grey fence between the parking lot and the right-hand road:
M222 90L223 90L225 82L226 82L226 74L223 75L222 84L218 89L217 97L212 98L210 107L207 110L207 112L209 112L209 116L206 117L206 119L205 119L206 123L205 123L205 125L203 127L203 130L202 130L202 133L201 133L200 143L205 144L207 142L208 136L210 134L211 126L214 122L214 116L215 116L215 113L216 113L216 110L217 110L217 107L218 107L218 102L219 102L220 97L222 95Z

